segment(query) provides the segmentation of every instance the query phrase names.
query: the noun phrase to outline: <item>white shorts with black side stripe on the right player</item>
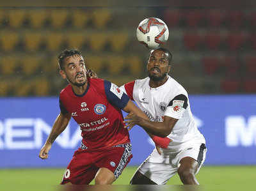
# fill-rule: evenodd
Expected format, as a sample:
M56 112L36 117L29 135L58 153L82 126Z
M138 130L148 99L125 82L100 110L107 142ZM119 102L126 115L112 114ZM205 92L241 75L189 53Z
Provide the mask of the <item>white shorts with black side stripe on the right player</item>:
M182 147L182 149L177 151L170 151L170 149L161 150L162 154L159 155L155 148L137 170L158 185L166 184L176 174L180 166L179 162L184 157L194 158L198 162L197 174L204 163L207 151L204 143L189 144L189 146Z

